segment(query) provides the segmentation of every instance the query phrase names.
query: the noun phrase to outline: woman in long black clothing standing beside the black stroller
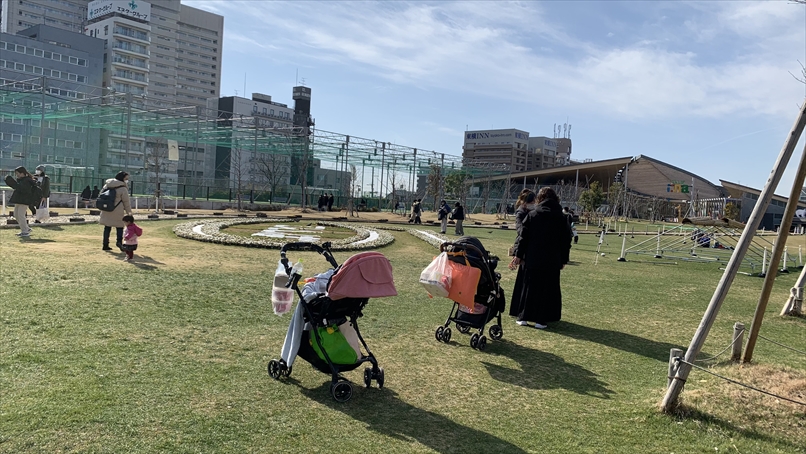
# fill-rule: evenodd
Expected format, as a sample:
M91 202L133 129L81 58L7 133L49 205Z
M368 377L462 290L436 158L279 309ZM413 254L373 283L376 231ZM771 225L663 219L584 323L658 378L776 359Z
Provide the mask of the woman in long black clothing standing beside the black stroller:
M562 213L559 197L544 187L537 194L537 206L523 219L520 234L513 247L510 268L519 267L523 286L513 295L518 304L519 325L543 329L562 315L560 270L568 263L571 250L571 230ZM515 311L517 309L512 309Z

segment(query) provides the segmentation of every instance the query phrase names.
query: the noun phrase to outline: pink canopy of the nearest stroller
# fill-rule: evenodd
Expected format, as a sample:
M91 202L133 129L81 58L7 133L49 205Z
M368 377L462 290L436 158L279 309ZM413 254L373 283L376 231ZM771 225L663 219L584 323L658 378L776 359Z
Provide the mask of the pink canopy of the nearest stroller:
M327 293L331 300L397 296L392 264L380 252L356 254L330 279Z

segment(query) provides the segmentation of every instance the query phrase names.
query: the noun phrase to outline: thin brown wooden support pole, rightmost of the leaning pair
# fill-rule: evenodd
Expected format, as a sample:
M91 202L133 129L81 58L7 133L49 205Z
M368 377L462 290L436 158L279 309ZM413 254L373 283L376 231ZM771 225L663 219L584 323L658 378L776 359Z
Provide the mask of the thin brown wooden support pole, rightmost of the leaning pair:
M798 134L798 137L799 136L800 134ZM797 137L795 137L795 140L797 140ZM782 167L784 167L784 169L781 169L781 172L785 170L786 163L784 163ZM749 363L753 359L753 350L756 348L756 338L761 329L761 322L764 320L764 312L767 310L767 303L770 300L772 286L775 284L775 276L778 274L778 264L781 261L781 255L786 250L786 239L789 236L789 227L792 226L792 218L795 217L795 211L798 209L798 199L800 198L800 191L803 188L804 180L806 180L806 146L803 147L803 155L800 158L798 173L795 176L795 182L792 183L792 189L789 192L789 200L784 209L784 218L781 219L781 226L778 228L778 237L775 239L775 244L773 245L770 267L767 271L767 275L764 276L764 284L761 286L761 295L758 298L756 312L753 315L753 323L750 324L750 334L747 335L747 345L745 346L744 356L742 357L742 362L745 363ZM766 202L769 203L769 200ZM758 203L761 203L760 197ZM765 204L764 208L766 209L766 207L767 205ZM753 212L755 213L755 209ZM784 260L786 260L786 257L784 257ZM784 269L786 269L786 261L784 262Z

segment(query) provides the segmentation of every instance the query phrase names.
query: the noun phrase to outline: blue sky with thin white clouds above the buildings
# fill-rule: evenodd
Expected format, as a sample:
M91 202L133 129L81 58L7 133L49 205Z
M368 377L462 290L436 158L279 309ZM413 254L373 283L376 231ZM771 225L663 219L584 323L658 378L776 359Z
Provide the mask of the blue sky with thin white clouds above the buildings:
M318 129L446 154L466 129L568 122L572 159L760 189L806 96L806 5L787 1L183 3L224 16L222 96L245 78L292 106L304 80Z

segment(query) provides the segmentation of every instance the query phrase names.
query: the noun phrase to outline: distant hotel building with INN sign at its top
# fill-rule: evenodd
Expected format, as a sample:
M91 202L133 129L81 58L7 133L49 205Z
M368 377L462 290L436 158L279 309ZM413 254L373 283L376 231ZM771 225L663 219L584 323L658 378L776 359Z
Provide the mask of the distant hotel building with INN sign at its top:
M506 165L513 172L528 166L529 133L519 129L466 131L462 161L466 166Z

